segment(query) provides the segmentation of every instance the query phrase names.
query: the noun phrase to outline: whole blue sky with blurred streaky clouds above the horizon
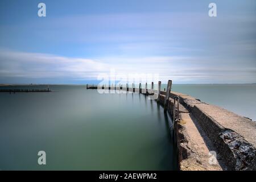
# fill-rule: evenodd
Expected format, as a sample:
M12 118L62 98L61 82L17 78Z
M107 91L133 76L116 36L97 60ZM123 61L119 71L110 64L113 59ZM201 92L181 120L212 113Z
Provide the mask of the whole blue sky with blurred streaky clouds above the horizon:
M111 70L255 83L255 15L254 0L1 0L0 84L85 84Z

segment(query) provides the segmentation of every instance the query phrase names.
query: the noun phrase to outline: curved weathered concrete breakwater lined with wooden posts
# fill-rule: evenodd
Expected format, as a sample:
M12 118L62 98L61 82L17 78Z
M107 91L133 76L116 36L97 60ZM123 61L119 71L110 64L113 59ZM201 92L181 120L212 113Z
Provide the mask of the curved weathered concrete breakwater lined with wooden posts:
M104 89L104 86L87 86ZM256 170L256 122L187 94L139 88L108 87L143 94L158 93L157 100L174 118L181 170ZM167 99L168 98L168 99ZM174 105L179 100L179 105ZM177 108L177 106L179 106ZM214 152L217 161L212 156ZM209 155L211 154L211 155Z

